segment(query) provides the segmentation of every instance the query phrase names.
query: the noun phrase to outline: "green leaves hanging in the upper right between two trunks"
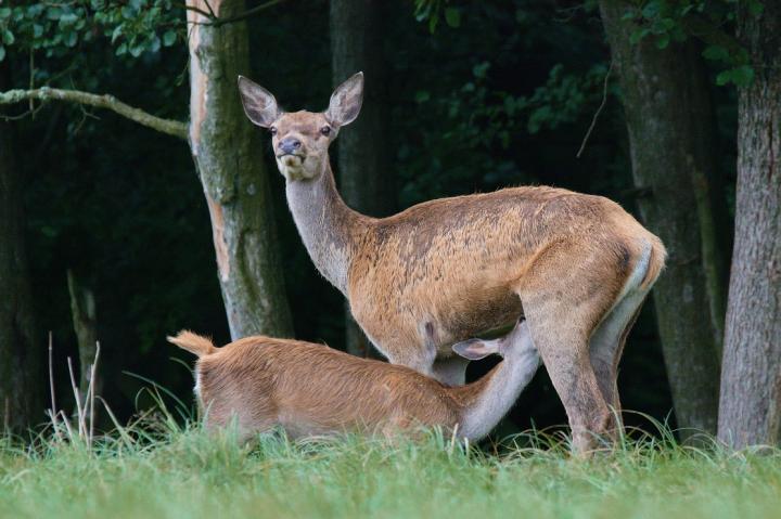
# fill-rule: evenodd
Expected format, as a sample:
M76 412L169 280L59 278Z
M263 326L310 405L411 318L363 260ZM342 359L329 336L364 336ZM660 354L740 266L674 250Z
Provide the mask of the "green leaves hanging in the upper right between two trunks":
M750 0L745 3L751 15L759 16L763 3ZM631 41L638 43L653 38L660 49L670 42L696 37L707 43L703 51L706 60L716 62L722 70L716 78L719 86L733 83L745 87L754 79L746 50L728 33L735 20L738 0L646 0L629 9L625 20L635 21L638 28Z

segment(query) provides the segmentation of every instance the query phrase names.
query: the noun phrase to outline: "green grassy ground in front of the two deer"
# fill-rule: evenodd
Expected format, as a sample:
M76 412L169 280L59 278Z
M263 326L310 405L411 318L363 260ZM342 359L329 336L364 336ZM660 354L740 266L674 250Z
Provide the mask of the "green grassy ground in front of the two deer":
M488 455L431 433L239 446L164 428L84 444L0 445L2 517L778 518L781 452L626 441L584 462L562 445ZM539 438L537 438L539 441Z

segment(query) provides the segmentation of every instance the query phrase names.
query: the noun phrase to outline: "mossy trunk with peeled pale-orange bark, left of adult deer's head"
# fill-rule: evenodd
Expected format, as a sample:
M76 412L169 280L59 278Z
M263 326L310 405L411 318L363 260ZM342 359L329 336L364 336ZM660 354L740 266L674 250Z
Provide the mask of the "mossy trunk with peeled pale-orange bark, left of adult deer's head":
M188 0L219 17L244 12L244 1ZM217 271L231 337L290 337L270 185L259 134L242 112L236 79L249 75L246 23L204 25L188 12L190 147L212 217Z

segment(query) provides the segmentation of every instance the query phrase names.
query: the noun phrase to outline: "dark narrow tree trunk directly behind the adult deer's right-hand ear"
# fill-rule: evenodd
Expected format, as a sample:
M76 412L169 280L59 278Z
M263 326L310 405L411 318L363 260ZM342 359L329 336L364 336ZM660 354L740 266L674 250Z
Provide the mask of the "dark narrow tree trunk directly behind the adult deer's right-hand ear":
M396 210L395 176L388 139L387 68L383 53L383 2L331 1L331 65L334 87L362 70L366 75L363 107L336 145L340 191L351 208L383 217ZM372 348L346 303L346 349L368 356Z

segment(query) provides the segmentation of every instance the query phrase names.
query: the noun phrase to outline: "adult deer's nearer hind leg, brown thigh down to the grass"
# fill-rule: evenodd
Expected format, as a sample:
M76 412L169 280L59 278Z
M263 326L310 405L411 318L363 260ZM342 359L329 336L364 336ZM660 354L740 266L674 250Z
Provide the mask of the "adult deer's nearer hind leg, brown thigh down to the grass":
M538 256L516 287L534 343L566 410L576 453L592 450L611 430L612 412L589 339L625 278L616 255L563 243Z

